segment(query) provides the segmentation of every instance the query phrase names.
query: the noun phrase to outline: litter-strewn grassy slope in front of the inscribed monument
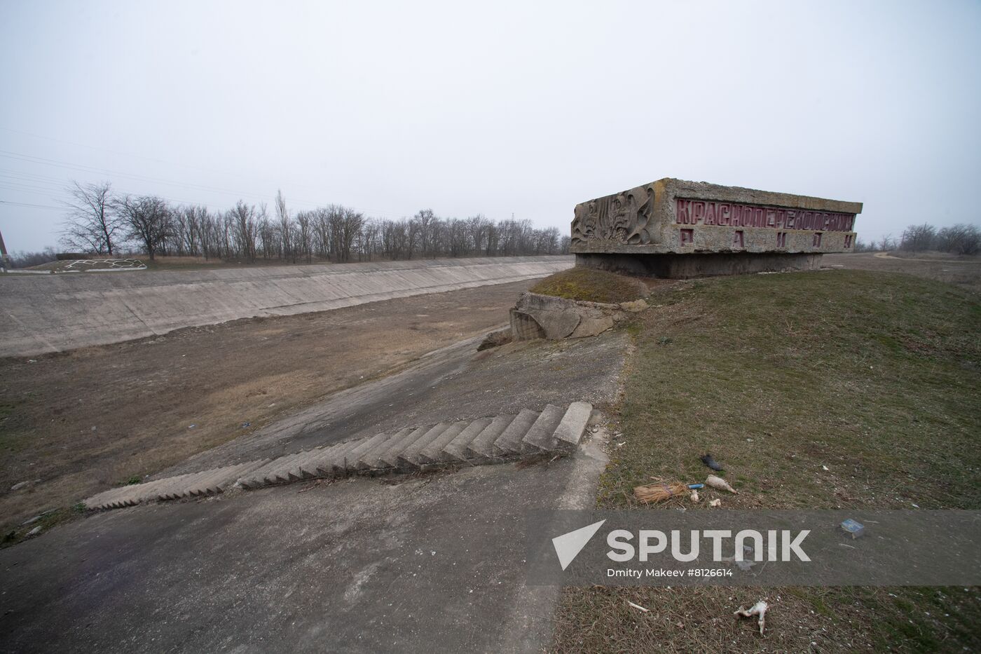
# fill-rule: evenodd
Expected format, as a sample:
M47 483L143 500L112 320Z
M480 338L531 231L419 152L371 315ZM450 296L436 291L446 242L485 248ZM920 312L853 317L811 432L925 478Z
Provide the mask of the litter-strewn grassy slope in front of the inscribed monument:
M611 446L598 506L692 508L687 499L641 507L631 490L650 476L700 480L699 457L711 452L740 490L724 508L981 508L977 296L836 270L697 281L653 301L629 327L637 352L615 425L626 443ZM553 649L979 651L978 595L569 588ZM771 609L760 637L733 612L764 596Z

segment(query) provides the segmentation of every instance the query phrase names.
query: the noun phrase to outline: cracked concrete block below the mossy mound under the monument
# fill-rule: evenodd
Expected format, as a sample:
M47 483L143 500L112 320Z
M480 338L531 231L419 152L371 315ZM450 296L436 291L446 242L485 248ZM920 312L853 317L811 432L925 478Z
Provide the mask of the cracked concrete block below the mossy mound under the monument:
M619 304L522 293L511 309L511 331L518 341L579 339L602 334L626 315ZM529 320L534 321L538 329Z

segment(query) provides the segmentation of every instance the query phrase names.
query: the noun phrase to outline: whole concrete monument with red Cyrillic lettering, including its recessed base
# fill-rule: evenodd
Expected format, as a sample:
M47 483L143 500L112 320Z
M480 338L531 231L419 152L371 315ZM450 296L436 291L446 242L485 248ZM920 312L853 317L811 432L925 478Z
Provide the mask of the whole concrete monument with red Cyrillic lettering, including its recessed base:
M576 265L689 278L817 268L861 202L663 179L576 205Z

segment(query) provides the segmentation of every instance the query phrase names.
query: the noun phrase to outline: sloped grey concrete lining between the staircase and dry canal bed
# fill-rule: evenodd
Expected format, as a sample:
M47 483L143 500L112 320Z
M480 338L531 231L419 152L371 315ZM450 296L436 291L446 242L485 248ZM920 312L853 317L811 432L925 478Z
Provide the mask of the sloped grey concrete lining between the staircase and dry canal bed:
M610 331L574 341L510 343L478 353L480 342L476 337L428 354L402 372L340 391L154 478L273 459L408 424L517 414L526 407L579 401L608 406L616 397L629 339L622 331Z

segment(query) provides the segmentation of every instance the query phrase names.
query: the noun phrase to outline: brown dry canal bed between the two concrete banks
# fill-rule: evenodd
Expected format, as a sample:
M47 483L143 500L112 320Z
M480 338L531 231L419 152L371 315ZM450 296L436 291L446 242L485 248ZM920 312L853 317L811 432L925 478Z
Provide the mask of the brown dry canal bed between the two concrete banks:
M486 332L534 282L0 359L0 522L151 474Z

